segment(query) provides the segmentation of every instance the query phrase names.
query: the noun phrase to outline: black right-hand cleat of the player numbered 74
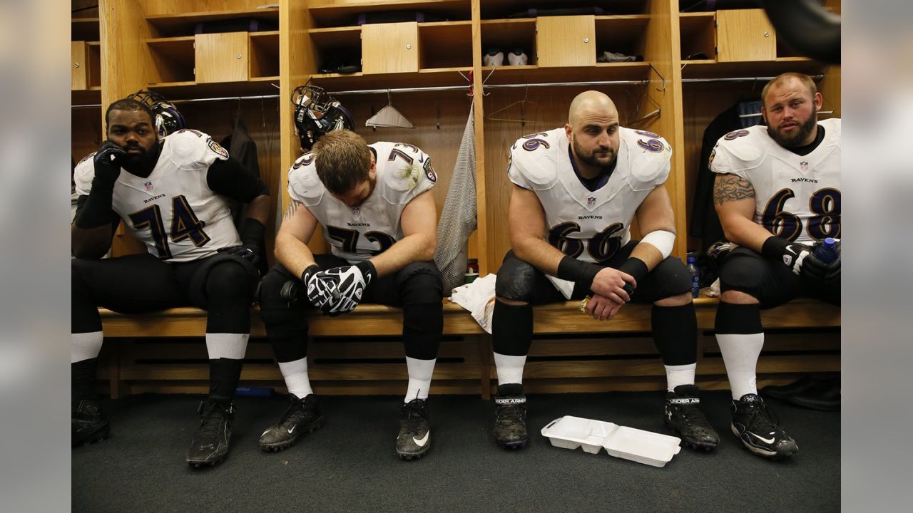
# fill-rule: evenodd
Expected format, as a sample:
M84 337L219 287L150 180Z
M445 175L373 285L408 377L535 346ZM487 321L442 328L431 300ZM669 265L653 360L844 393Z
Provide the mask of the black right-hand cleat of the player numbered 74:
M235 406L228 400L207 397L196 411L200 414L200 432L187 450L187 465L193 468L215 466L228 454Z

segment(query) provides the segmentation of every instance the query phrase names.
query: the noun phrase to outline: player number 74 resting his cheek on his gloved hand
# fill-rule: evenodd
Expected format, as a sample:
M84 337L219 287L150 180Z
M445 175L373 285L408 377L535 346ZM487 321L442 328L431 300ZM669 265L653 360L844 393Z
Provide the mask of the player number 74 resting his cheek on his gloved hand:
M208 311L210 393L186 461L211 466L225 457L231 439L269 192L205 133L160 138L152 118L135 99L112 103L105 113L108 141L75 172L72 444L110 432L93 393L102 343L98 307L133 314L195 306ZM240 236L226 198L248 204ZM121 221L148 253L102 258Z

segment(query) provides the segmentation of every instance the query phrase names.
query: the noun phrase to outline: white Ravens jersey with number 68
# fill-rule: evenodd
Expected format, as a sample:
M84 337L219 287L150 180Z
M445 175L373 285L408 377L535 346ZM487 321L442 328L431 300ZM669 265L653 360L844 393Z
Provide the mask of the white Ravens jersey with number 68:
M840 237L840 120L818 124L824 141L807 155L777 144L765 126L731 131L710 153L711 171L754 187L754 222L791 241Z

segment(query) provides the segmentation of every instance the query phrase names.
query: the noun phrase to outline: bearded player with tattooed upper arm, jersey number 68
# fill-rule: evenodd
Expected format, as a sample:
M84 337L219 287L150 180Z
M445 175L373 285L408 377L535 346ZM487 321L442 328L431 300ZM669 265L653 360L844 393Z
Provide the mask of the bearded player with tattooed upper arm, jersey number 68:
M821 93L812 79L785 73L762 93L767 126L717 142L714 203L730 242L722 261L716 331L732 390L732 432L766 457L799 449L761 401L755 368L764 332L760 309L799 296L840 304L839 242L824 263L815 248L840 237L840 120L818 122Z

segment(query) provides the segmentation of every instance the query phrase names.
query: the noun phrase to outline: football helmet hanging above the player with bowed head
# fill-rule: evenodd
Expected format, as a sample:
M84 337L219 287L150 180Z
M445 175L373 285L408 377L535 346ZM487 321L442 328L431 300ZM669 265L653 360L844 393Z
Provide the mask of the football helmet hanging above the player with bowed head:
M305 152L324 133L335 130L352 130L352 114L338 99L317 86L299 86L291 93L295 104L295 133L301 140Z

